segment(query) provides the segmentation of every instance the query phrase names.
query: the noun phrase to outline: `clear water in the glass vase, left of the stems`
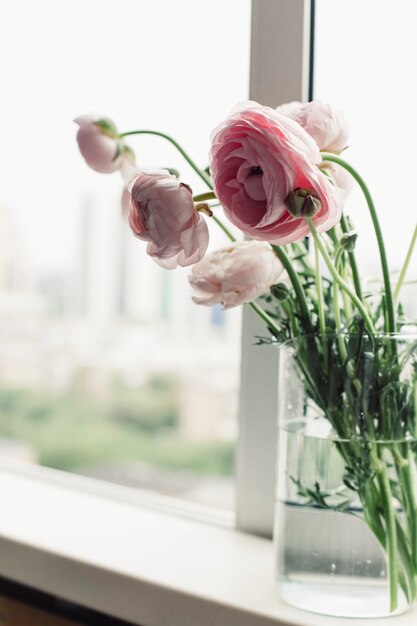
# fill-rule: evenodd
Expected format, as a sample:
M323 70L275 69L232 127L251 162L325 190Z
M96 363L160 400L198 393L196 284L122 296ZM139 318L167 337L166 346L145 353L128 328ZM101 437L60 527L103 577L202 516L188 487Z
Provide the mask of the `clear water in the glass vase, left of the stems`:
M386 554L359 503L352 502L343 482L343 459L328 430L320 419L293 420L280 430L275 515L279 593L289 604L321 614L389 615ZM400 590L396 613L407 607Z

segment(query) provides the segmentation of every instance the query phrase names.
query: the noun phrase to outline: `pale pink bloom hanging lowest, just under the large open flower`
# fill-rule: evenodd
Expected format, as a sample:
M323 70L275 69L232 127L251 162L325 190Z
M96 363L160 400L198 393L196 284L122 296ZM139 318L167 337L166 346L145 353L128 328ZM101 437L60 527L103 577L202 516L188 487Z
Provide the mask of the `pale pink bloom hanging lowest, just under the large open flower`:
M283 267L264 241L242 241L208 254L188 277L197 304L226 309L252 302L278 282Z

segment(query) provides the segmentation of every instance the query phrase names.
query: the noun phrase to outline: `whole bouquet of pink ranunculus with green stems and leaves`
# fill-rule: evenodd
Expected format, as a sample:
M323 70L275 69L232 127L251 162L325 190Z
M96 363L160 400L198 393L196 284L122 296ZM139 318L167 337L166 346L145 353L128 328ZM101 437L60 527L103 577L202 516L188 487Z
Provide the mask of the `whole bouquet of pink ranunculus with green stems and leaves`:
M269 332L261 342L291 342L307 404L327 420L344 462L338 499L318 483L311 489L294 479L298 493L335 510L359 501L387 553L391 611L399 590L411 604L417 575L417 336L405 332L411 323L400 292L417 226L393 281L371 194L341 156L348 138L343 114L319 101L277 109L243 103L214 130L206 169L159 131L119 133L111 120L93 115L75 121L88 165L122 174L123 213L156 263L168 270L192 266L197 304L248 303ZM176 171L138 168L126 141L141 134L171 142L206 189L193 195ZM378 293L364 290L357 233L343 213L355 181L378 244ZM241 240L217 216L220 205ZM210 254L206 220L229 240Z

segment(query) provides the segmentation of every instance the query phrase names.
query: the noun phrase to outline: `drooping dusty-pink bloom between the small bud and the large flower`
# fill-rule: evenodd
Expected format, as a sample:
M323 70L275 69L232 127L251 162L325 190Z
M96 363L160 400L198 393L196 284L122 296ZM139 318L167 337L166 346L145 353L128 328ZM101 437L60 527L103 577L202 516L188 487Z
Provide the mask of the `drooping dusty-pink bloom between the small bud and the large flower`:
M129 184L129 224L148 241L148 254L165 269L185 267L206 253L209 233L192 191L167 170L140 170Z

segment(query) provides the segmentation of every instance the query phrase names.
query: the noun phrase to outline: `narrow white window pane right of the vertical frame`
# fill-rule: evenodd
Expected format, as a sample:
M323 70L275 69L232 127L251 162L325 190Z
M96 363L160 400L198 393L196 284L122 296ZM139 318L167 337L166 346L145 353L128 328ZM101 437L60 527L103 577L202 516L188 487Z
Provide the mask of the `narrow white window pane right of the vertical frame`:
M389 265L399 270L416 222L415 100L417 5L400 0L317 1L315 98L341 108L350 123L344 154L359 170L377 206ZM380 276L375 234L361 193L353 190L346 211L358 229L362 272ZM416 263L409 278L416 278ZM417 315L411 287L407 308ZM415 293L415 286L414 286Z

